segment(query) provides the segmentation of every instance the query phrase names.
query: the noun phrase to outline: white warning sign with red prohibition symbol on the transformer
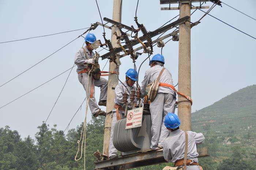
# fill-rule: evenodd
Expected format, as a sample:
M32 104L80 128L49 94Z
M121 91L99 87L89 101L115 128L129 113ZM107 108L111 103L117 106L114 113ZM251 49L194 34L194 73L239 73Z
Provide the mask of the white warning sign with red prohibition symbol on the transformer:
M143 107L127 111L125 129L136 128L142 125L142 112Z

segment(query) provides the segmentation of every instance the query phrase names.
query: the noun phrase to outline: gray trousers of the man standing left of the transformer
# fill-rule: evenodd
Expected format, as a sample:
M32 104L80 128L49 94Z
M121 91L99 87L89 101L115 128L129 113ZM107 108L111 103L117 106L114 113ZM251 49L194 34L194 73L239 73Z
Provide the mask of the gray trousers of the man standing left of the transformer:
M119 110L119 113L122 113L121 118L123 118L124 117L124 112ZM111 131L110 131L110 141L109 141L109 156L117 155L117 149L114 147L114 144L113 144L114 126L116 125L116 122L117 122L116 109L113 109L112 116L113 117L112 117L112 124L111 124Z

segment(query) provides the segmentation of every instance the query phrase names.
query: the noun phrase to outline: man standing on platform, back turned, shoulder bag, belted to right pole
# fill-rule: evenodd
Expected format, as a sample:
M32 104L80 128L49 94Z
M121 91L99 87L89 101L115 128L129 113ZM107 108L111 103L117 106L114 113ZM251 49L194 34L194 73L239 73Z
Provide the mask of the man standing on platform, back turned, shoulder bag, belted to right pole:
M167 68L164 68L165 58L161 54L156 54L150 60L150 68L145 72L142 81L142 97L148 96L150 101L151 113L151 150L162 148L162 141L168 136L169 131L163 124L163 118L168 112L174 113L176 104L176 93L168 87L152 87L146 91L152 84L166 83L173 85L172 74ZM151 96L154 94L154 96ZM150 151L150 150L148 150Z

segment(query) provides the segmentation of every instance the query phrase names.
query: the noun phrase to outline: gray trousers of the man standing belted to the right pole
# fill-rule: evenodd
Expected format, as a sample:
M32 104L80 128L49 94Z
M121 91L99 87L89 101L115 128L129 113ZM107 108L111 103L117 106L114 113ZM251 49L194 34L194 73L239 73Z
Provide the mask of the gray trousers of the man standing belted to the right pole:
M176 104L176 96L168 93L158 93L154 101L150 103L149 109L151 113L151 148L157 149L162 146L163 140L169 135L168 129L163 124L167 113L174 113Z

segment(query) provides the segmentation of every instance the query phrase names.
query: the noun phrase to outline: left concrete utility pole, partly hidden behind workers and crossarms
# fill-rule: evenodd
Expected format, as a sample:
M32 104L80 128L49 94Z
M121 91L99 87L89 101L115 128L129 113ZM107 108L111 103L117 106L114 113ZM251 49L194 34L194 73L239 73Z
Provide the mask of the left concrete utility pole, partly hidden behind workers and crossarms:
M121 6L121 0L113 0L113 20L116 22L121 22L121 15L122 15L122 6ZM117 32L118 35L120 35L120 31L116 26L112 27L111 32L111 42L113 47L119 47L117 44L116 35L114 35L114 32ZM117 63L119 63L119 56L116 56ZM109 63L109 71L115 71L116 64L114 62ZM110 112L114 107L114 98L115 98L115 91L114 88L118 84L116 74L109 74L108 79L108 97L107 97L107 109L106 112ZM109 140L110 140L110 131L111 131L111 123L112 118L111 114L107 114L105 118L105 129L104 129L104 141L103 141L103 154L108 156L109 152Z

